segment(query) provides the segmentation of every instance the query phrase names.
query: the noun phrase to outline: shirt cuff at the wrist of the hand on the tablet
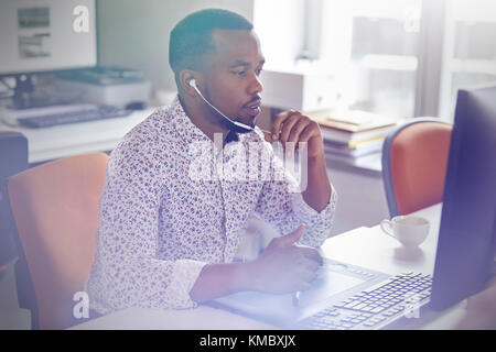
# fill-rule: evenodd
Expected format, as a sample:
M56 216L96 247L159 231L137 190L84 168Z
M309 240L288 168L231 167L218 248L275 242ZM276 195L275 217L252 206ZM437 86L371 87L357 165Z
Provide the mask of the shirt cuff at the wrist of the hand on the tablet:
M168 300L174 301L176 308L194 308L197 306L197 302L191 299L190 290L206 264L205 262L192 260L177 260L174 262L174 271L172 279L165 289L165 297Z

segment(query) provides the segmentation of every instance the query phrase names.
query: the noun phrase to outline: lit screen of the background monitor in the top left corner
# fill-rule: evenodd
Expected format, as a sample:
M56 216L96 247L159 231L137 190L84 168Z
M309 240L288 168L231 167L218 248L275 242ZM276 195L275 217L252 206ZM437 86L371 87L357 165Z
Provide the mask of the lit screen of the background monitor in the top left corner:
M0 75L97 63L95 0L1 0Z

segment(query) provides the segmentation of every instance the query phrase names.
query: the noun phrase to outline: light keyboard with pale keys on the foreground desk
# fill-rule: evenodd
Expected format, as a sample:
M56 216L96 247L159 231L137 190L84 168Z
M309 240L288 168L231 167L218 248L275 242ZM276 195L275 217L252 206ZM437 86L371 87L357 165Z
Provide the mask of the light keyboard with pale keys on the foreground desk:
M400 274L299 321L294 328L379 329L403 316L418 318L418 309L429 301L431 287L430 275Z

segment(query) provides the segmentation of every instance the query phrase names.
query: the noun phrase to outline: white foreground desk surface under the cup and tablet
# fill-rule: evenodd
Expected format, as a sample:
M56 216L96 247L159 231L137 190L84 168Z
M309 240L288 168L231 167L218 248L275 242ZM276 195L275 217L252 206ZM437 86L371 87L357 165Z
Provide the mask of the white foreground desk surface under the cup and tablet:
M431 220L428 240L418 251L406 252L395 239L384 234L379 227L359 228L328 239L322 250L333 260L365 266L388 274L406 271L432 274L438 244L441 205L417 215ZM442 314L422 312L420 319L411 319L420 329L451 329L460 320L464 304ZM73 327L73 329L276 329L231 312L201 306L187 310L158 310L129 308Z

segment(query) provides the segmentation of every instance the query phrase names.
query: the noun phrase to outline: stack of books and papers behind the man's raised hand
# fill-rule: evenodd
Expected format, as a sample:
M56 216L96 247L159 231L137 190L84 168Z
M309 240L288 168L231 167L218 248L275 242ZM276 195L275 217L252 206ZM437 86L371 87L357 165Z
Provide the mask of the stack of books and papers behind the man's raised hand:
M397 123L365 111L311 118L321 125L326 157L352 164L380 153L385 138Z

